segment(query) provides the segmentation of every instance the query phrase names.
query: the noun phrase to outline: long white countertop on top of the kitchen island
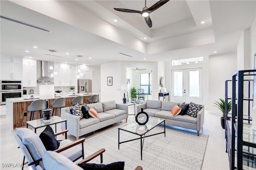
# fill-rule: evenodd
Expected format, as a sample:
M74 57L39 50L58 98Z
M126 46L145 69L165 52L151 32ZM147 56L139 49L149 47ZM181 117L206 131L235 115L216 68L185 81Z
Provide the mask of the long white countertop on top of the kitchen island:
M75 93L74 95L72 93L64 93L64 94L56 94L56 96L54 98L49 98L49 99L57 99L57 98L72 98L72 97L76 97L76 96L92 96L94 94L99 95L98 93ZM35 96L34 99L30 99L30 96ZM38 100L40 99L39 94L26 94L23 95L23 98L6 98L6 102L12 102L12 103L16 103L16 102L28 102L28 101L34 101L34 100ZM44 99L46 100L46 99Z

